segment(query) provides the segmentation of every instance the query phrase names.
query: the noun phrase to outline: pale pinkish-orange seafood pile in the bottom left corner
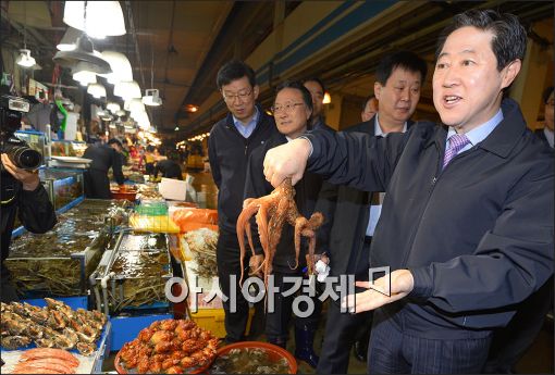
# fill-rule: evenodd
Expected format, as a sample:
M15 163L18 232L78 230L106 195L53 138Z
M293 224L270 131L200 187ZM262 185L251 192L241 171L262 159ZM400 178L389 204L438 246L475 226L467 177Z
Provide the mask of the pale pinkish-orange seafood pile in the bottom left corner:
M79 360L62 349L36 348L25 351L10 374L75 374Z

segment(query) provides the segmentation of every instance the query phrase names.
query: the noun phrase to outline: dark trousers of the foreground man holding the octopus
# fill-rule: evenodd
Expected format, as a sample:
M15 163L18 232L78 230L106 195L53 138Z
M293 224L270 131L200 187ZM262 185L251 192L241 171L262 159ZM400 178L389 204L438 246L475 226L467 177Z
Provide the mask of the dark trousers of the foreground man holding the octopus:
M399 312L398 314L402 314ZM403 321L403 316L396 317ZM368 346L369 374L479 374L492 335L483 338L428 339L407 335L400 323L374 311Z

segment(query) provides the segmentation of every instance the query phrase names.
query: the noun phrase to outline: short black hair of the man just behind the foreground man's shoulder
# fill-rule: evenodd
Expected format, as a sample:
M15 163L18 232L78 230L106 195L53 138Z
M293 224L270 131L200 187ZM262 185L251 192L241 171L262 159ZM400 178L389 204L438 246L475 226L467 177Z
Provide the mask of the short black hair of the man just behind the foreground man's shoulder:
M424 83L428 65L423 59L410 51L396 51L382 58L375 70L375 80L385 86L393 71L397 67L412 73L420 73L421 84Z

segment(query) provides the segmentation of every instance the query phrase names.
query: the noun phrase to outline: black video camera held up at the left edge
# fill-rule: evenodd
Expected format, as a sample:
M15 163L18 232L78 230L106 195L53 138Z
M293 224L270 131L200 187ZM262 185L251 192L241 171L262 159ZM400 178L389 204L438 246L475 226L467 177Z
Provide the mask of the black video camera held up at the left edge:
M21 127L22 114L29 108L29 102L23 98L0 96L0 152L5 153L15 166L32 171L40 166L42 155L14 135ZM3 164L1 170L4 171Z

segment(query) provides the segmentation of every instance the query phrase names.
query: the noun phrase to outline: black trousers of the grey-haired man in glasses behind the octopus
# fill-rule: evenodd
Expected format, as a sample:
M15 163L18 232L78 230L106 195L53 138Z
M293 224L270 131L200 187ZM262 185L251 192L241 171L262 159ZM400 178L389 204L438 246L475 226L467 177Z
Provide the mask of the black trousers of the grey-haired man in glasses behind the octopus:
M299 266L300 268L300 266ZM270 341L283 341L286 342L289 332L289 323L292 316L294 316L294 324L296 327L308 327L309 330L316 330L318 323L320 322L320 315L322 313L322 302L318 299L318 292L313 297L309 297L308 292L303 292L303 286L300 290L289 296L283 296L283 292L287 292L293 287L293 284L285 283L284 277L304 277L300 272L297 273L280 273L274 272L274 287L279 288L279 291L273 293L274 307L271 311L271 307L268 307L268 313L266 315L266 336ZM293 305L295 298L298 296L307 296L311 302L303 301L298 299L298 309L301 313L307 312L309 305L311 305L312 313L308 316L296 316L294 314ZM305 297L306 298L306 297Z

